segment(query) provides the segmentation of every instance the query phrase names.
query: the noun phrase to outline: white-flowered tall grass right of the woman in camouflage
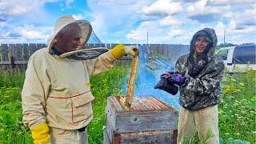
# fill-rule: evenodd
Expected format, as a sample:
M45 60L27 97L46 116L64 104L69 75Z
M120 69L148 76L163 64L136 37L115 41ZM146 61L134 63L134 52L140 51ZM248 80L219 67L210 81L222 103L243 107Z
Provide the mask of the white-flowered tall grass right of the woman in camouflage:
M256 75L226 74L222 80L222 102L218 106L220 137L256 143ZM225 141L224 141L225 142Z

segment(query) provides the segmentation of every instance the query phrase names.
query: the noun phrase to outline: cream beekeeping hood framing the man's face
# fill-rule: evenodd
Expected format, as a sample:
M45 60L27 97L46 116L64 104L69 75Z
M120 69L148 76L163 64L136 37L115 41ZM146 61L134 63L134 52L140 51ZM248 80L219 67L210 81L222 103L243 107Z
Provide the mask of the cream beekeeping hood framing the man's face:
M54 25L54 34L48 39L47 42L47 48L49 49L49 52L52 53L51 48L54 44L56 35L65 27L70 24L77 23L78 26L80 26L82 30L82 38L81 43L88 42L90 38L90 34L92 32L92 26L90 25L90 22L87 22L86 20L75 20L71 15L62 16L61 18L58 18L58 20L55 22Z

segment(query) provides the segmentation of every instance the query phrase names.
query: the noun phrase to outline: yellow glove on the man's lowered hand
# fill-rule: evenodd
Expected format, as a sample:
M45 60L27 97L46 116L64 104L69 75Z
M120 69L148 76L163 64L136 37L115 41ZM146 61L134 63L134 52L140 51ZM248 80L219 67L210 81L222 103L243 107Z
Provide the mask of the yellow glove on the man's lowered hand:
M45 144L50 142L49 127L45 122L30 128L34 144Z

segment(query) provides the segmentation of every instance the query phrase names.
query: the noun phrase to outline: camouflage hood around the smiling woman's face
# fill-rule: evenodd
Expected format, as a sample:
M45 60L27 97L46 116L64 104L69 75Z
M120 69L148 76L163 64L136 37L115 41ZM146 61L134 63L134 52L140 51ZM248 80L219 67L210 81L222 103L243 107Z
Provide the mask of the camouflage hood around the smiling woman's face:
M194 34L190 41L190 56L194 55L194 44L199 36L206 36L206 39L210 42L204 52L205 56L208 58L208 61L210 61L210 59L214 56L214 50L218 42L215 30L211 28L204 28Z

